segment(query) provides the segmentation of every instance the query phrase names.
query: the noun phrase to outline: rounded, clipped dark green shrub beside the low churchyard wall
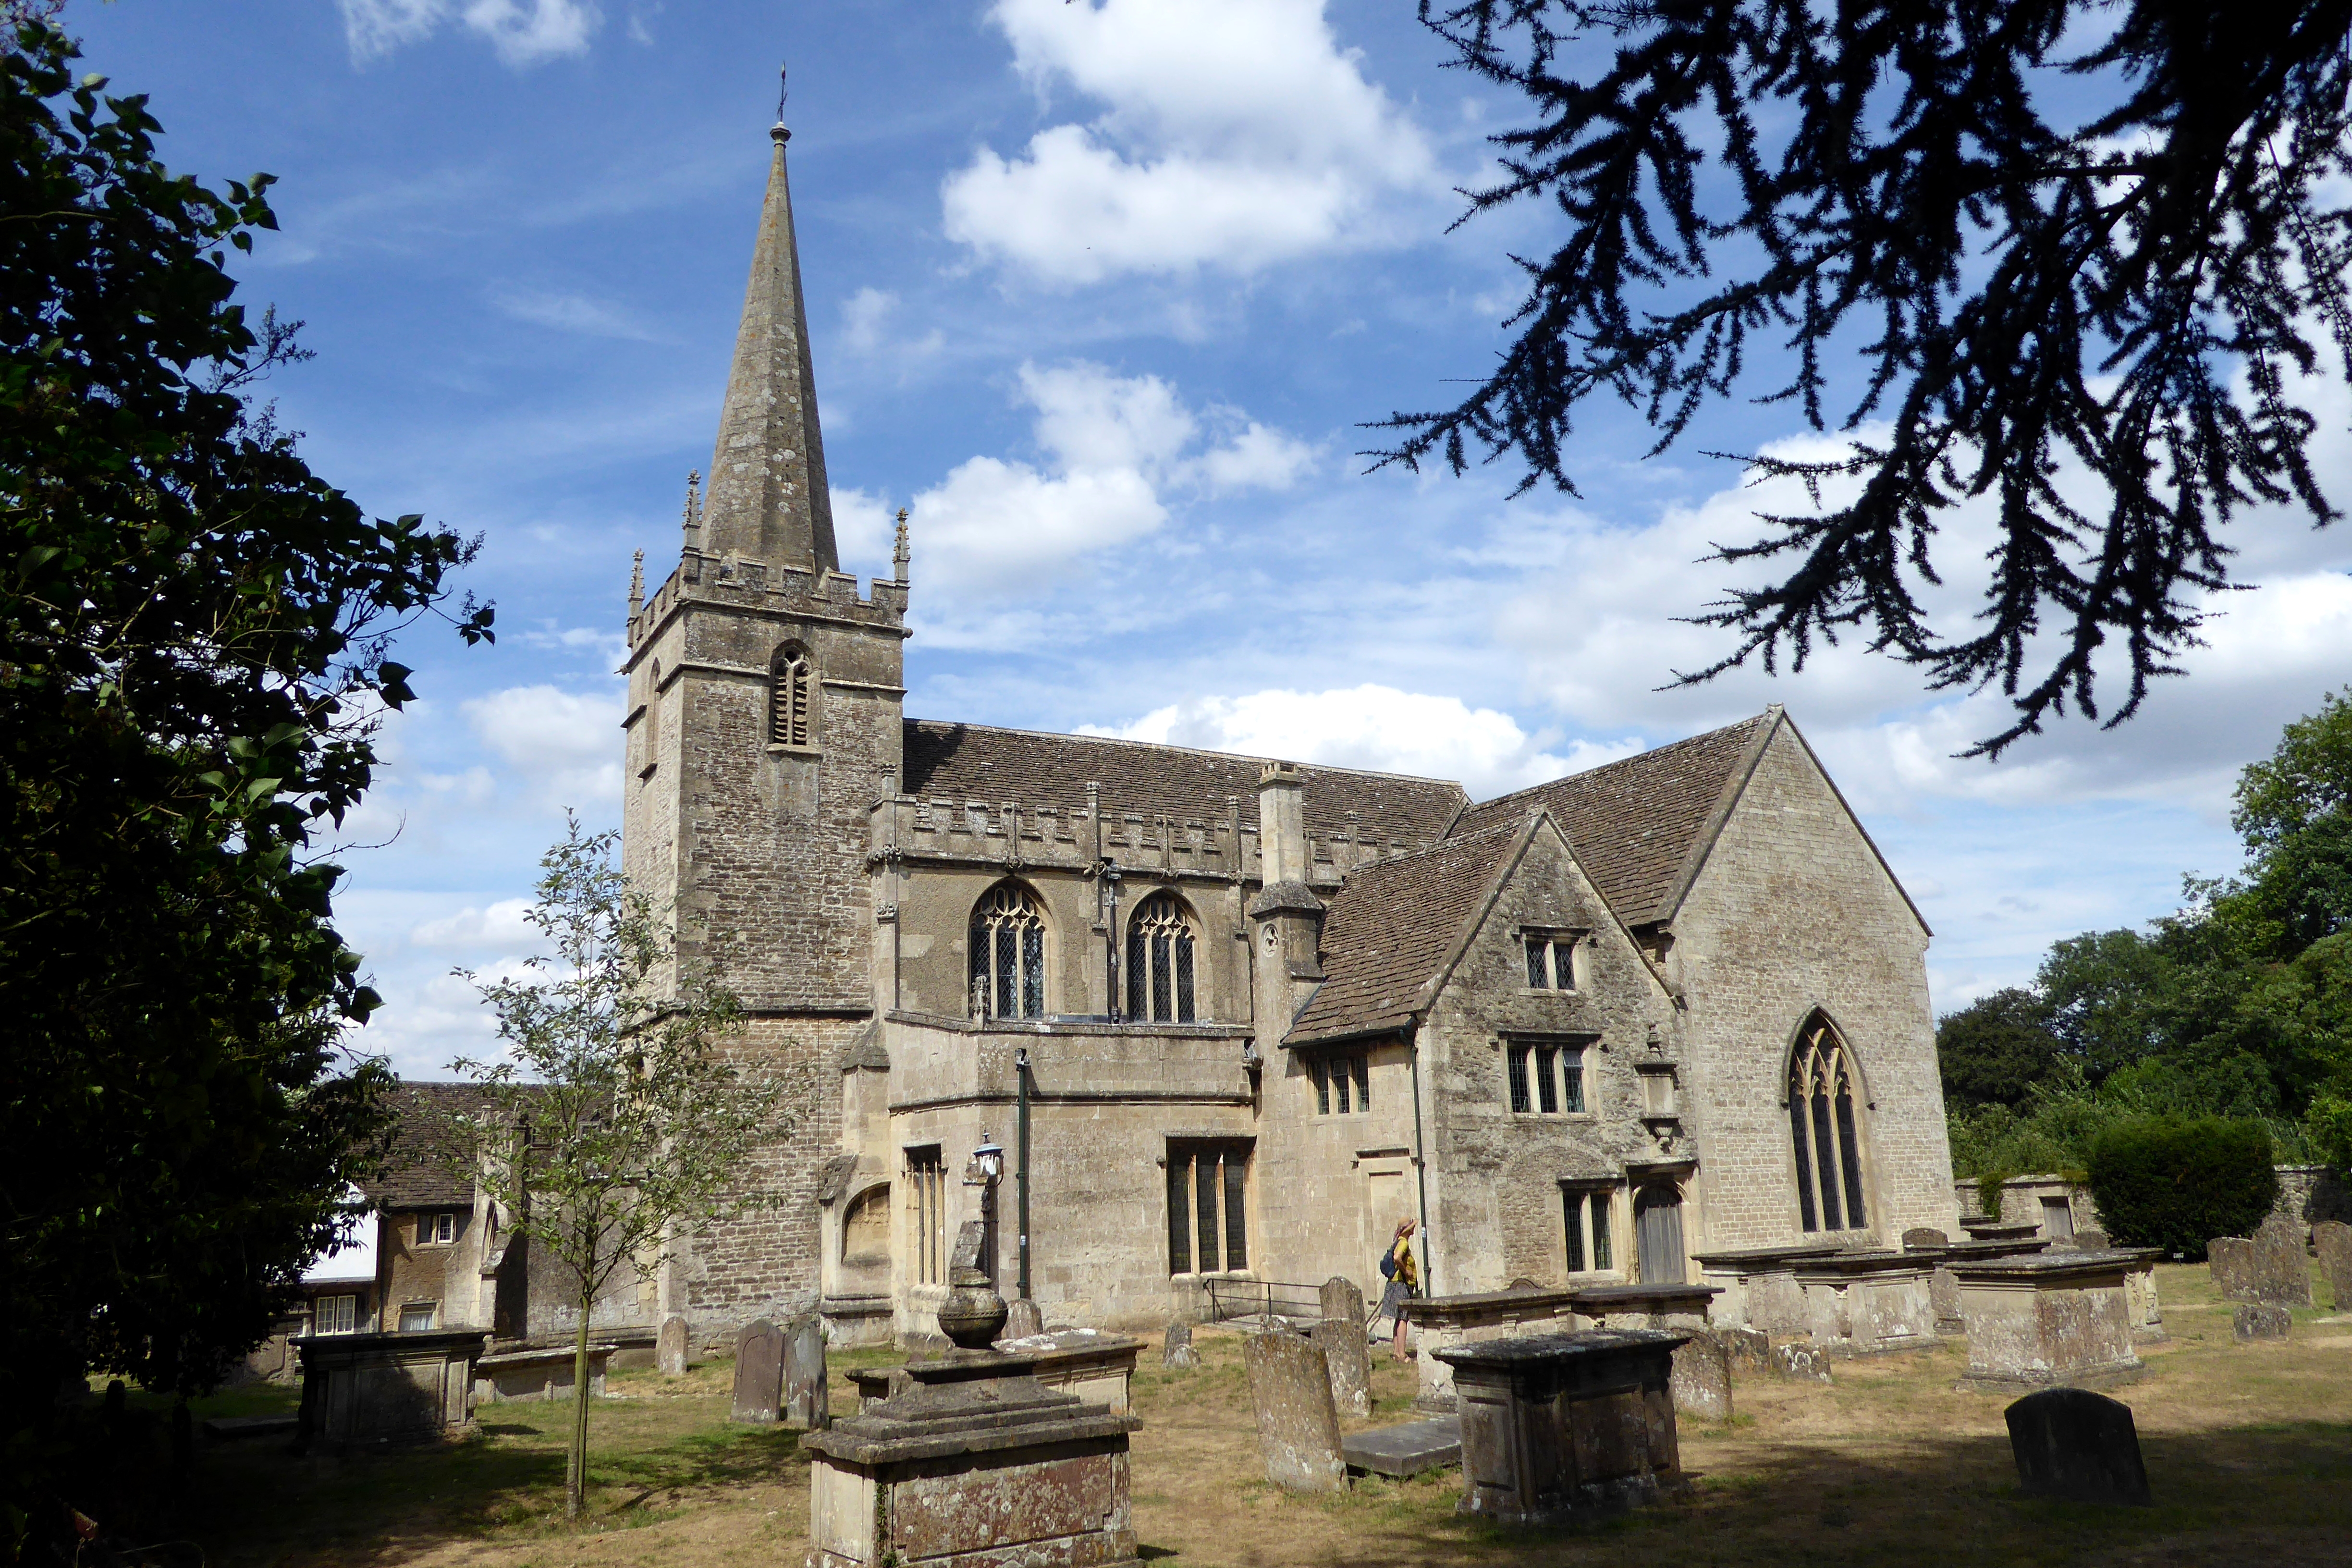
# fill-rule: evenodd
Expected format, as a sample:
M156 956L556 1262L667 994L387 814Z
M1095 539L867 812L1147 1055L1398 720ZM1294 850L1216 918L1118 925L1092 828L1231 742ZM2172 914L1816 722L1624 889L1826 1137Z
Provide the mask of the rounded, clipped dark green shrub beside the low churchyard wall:
M2246 1237L2279 1199L2260 1121L2145 1117L2091 1143L2091 1199L2124 1246L2204 1258L2213 1237Z

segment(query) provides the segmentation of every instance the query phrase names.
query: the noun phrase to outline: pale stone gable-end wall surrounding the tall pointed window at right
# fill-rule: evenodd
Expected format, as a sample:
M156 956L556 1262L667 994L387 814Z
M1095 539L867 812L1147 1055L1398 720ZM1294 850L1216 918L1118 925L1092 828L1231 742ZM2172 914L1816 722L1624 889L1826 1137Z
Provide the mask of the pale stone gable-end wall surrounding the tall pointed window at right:
M1856 1239L1950 1232L1929 933L1792 726L1773 731L1670 936L1668 978L1689 999L1691 1098L1708 1124L1705 1246L1802 1237L1785 1074L1816 1009L1867 1091L1870 1225Z

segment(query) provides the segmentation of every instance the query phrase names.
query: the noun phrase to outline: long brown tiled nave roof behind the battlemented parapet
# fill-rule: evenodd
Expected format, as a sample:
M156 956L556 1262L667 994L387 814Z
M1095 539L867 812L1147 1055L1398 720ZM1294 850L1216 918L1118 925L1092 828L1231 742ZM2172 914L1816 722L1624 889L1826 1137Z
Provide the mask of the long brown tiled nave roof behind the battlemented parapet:
M1242 823L1256 827L1263 764L1265 757L1183 745L908 719L901 788L938 799L1016 799L1023 806L1077 811L1087 804L1087 780L1094 780L1103 785L1108 816L1138 811L1178 823L1223 823L1230 816L1225 799L1240 795ZM1367 839L1418 849L1435 844L1470 799L1458 783L1442 778L1327 766L1305 766L1301 773L1308 832L1317 837L1343 832L1355 811Z

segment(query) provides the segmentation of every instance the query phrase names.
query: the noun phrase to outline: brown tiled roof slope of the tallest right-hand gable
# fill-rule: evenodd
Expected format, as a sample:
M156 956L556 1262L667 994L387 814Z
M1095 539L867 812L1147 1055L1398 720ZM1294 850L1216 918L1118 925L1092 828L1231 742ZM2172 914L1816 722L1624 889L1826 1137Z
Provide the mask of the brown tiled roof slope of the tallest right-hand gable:
M1456 835L1522 823L1545 806L1569 835L1576 860L1628 926L1668 914L1724 788L1778 712L1710 729L1623 762L1489 799L1463 813Z

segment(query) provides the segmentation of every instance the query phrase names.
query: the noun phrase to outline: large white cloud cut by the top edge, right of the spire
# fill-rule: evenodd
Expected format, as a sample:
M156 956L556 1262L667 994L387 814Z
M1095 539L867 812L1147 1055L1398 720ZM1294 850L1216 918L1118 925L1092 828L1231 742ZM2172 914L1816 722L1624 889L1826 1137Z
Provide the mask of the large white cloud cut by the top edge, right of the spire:
M1390 244L1446 181L1322 0L997 0L1014 66L1105 103L941 186L950 240L1056 284ZM1397 197L1404 197L1399 202Z

